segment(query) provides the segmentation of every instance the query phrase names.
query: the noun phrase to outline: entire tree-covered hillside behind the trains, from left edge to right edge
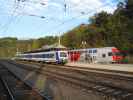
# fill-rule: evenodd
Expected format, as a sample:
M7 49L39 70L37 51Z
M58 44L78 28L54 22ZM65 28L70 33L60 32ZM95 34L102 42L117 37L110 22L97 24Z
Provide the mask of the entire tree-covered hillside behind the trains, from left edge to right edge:
M133 54L133 0L120 2L113 14L100 12L88 18L89 24L82 24L64 33L61 43L68 48L116 46ZM58 37L18 40L0 39L0 56L12 57L23 52L58 42ZM83 42L86 42L83 44Z

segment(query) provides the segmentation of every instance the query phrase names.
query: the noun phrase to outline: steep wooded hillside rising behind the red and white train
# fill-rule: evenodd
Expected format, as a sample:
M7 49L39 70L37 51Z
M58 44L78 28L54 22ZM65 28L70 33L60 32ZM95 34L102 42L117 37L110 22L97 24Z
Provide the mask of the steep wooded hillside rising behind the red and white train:
M120 2L113 14L95 14L89 22L65 33L63 44L80 48L86 41L86 47L116 46L133 52L133 0Z

